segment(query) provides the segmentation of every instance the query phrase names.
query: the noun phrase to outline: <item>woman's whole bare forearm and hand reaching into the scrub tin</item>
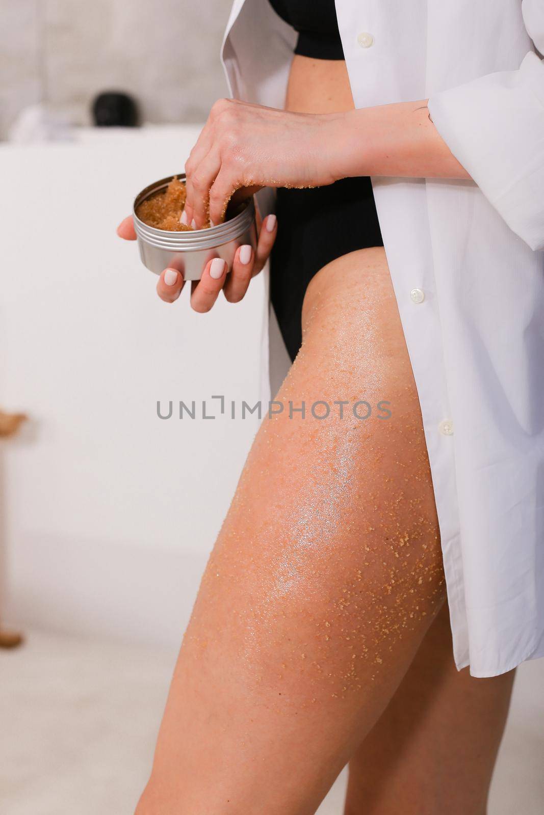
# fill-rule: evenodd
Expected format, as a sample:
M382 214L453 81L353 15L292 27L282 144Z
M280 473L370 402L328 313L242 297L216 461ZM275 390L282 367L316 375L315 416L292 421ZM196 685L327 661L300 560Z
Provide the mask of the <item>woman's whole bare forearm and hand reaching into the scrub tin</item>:
M322 187L358 175L470 178L429 119L426 99L329 114L219 99L185 174L185 218L199 229L220 223L241 187Z

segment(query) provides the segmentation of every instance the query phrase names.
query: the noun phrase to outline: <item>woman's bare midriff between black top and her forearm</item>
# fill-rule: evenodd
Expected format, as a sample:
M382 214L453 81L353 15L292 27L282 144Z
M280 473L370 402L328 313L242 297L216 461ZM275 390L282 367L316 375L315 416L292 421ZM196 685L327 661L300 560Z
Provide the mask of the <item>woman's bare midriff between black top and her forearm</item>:
M341 113L354 108L343 59L294 55L285 110L296 113Z

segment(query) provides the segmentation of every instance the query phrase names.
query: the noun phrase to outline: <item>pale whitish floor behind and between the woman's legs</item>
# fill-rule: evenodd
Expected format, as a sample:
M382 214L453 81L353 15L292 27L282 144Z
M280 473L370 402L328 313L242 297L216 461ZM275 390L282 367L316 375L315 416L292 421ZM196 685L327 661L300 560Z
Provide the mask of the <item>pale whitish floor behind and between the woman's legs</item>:
M0 813L132 815L175 656L38 631L0 651ZM541 666L517 681L489 815L544 811ZM342 815L345 780L319 815Z

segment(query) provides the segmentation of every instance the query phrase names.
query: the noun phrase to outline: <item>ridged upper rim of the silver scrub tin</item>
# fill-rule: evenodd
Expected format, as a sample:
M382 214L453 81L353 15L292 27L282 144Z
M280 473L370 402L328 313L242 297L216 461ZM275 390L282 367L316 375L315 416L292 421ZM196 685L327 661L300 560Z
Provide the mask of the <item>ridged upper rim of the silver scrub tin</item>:
M195 249L214 249L215 246L226 244L229 240L236 240L250 227L255 217L253 196L243 201L238 207L240 211L232 218L229 218L228 221L208 229L173 232L166 229L156 229L140 221L136 215L136 208L142 201L153 196L155 192L166 189L170 181L176 177L179 178L179 181L185 180L184 173L176 173L168 178L161 178L160 181L145 187L135 197L132 217L134 218L136 235L140 240L144 240L145 243L151 246L156 246L157 249L169 249L173 252L192 252Z

